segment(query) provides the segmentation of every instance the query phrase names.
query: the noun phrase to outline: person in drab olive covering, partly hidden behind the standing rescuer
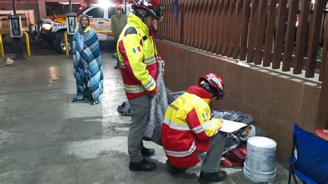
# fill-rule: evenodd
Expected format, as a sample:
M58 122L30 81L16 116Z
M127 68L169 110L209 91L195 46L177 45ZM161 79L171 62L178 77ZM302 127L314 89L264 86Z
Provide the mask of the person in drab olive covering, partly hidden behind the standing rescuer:
M122 5L117 4L115 14L111 15L111 31L113 31L116 45L125 25L127 25L127 15L122 14ZM114 68L117 69L119 67L120 65L117 64Z

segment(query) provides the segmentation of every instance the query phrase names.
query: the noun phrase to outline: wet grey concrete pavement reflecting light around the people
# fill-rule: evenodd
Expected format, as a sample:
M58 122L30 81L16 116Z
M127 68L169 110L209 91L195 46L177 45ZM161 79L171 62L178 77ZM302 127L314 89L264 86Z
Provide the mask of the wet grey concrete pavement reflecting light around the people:
M198 183L200 165L172 176L165 152L156 149L155 172L130 172L127 134L130 117L116 109L126 99L116 60L102 55L102 104L72 103L76 86L72 59L33 56L4 66L0 59L0 183ZM242 167L224 169L222 183L252 183ZM277 165L275 183L288 171Z

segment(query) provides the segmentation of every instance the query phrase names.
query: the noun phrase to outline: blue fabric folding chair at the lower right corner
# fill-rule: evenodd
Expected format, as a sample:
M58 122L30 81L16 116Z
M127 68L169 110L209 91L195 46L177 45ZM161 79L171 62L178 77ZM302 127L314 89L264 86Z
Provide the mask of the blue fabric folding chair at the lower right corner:
M289 163L288 183L291 183L291 176L298 183L296 175L303 183L327 184L328 141L304 131L295 123Z

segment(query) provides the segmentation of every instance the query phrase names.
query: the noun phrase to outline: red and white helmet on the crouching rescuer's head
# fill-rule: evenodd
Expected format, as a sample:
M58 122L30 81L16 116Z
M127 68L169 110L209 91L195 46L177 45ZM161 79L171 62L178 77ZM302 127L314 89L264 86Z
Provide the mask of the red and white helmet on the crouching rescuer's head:
M224 98L224 81L221 79L219 75L216 73L208 73L199 77L198 84L201 86L201 82L206 81L210 86L217 90L217 98L223 99Z

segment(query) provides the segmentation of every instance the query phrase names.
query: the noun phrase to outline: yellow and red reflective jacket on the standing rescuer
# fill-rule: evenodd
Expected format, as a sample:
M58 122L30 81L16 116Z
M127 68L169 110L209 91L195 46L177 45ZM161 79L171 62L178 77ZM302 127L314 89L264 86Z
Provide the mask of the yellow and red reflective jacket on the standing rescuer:
M127 99L156 93L157 61L154 38L143 21L131 13L118 38L118 63Z

